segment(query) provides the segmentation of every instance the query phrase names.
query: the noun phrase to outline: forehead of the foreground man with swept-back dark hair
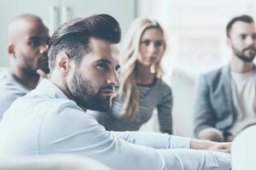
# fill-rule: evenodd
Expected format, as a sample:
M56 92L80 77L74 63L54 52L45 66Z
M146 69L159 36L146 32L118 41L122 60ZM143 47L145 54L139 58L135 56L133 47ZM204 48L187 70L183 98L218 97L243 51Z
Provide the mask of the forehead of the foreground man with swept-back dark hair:
M95 61L108 59L111 63L118 63L119 47L117 44L96 37L90 37L90 52L84 55L84 59Z

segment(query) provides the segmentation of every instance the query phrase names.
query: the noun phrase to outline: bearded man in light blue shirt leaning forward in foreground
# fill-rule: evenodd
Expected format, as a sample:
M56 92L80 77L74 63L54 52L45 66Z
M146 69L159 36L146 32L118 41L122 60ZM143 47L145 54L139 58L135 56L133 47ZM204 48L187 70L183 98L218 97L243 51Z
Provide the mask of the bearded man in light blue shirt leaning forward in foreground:
M58 28L49 41L49 80L17 99L0 122L0 157L68 153L123 170L230 169L230 143L109 132L85 113L111 106L119 41L119 23L108 14Z

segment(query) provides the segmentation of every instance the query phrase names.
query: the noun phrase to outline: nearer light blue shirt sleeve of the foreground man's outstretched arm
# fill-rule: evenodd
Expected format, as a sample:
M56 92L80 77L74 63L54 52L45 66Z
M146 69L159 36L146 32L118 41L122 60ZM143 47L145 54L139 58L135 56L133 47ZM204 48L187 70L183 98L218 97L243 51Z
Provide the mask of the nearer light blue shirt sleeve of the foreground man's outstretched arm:
M229 156L214 152L154 149L149 147L149 144L143 146L127 142L124 137L120 138L118 134L106 131L92 116L73 108L59 107L55 114L44 117L40 129L38 142L40 154L69 153L90 157L113 169L213 170L230 167ZM131 139L143 144L145 141L137 138L146 138L147 135L137 134L137 137ZM166 135L160 138L172 141L172 138Z

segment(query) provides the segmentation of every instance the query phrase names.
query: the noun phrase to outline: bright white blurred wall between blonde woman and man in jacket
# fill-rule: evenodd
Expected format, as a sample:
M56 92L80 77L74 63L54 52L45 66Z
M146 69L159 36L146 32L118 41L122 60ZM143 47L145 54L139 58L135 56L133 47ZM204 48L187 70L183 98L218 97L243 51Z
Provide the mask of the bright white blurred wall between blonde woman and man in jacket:
M227 22L239 14L256 20L255 0L141 0L138 5L139 16L159 20L167 32L167 72L177 66L201 72L224 65L230 59Z

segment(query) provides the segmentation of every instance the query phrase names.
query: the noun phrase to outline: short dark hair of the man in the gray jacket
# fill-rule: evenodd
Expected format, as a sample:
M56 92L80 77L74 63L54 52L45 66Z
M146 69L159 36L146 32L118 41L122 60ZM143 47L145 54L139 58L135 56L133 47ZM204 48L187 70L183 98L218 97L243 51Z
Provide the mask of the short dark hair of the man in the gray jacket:
M226 36L227 37L230 37L230 31L231 31L232 26L235 24L236 21L241 21L241 22L245 22L245 23L248 23L248 24L254 23L253 18L251 16L247 15L247 14L242 14L242 15L234 17L232 20L230 20L230 22L226 26Z

